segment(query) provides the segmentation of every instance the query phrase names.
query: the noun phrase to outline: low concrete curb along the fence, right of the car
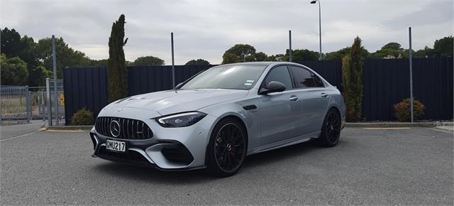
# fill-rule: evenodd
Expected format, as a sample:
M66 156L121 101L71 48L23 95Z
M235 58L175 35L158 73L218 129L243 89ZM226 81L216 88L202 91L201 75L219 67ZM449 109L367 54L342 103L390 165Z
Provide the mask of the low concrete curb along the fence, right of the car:
M348 122L345 127L436 127L454 126L454 122Z

